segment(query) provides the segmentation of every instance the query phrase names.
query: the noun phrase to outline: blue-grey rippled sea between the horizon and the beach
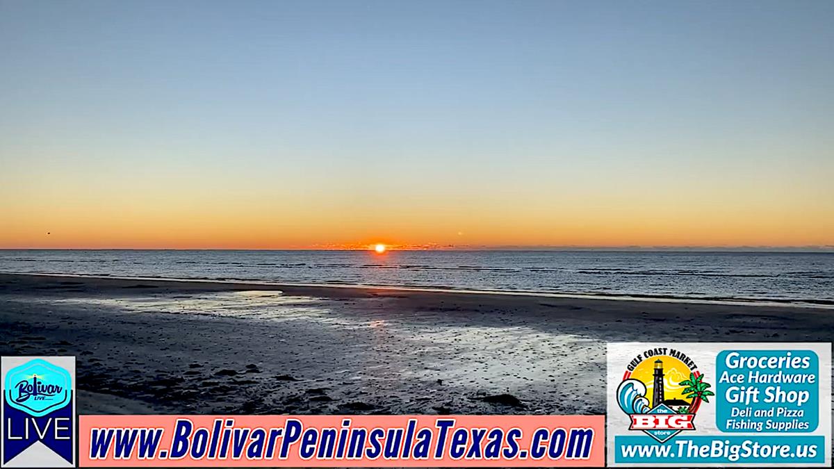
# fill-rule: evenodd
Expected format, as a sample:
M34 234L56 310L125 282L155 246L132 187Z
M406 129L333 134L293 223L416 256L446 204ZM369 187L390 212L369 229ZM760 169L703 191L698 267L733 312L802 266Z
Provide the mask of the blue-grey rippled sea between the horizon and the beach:
M0 271L834 305L834 253L0 250Z

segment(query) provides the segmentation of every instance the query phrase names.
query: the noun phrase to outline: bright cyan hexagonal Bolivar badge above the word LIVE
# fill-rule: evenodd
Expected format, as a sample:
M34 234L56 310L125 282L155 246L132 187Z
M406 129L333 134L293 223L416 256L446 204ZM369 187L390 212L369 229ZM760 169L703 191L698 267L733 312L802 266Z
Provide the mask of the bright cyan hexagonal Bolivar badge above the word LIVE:
M67 406L73 390L66 370L40 359L9 370L4 387L9 406L36 417Z

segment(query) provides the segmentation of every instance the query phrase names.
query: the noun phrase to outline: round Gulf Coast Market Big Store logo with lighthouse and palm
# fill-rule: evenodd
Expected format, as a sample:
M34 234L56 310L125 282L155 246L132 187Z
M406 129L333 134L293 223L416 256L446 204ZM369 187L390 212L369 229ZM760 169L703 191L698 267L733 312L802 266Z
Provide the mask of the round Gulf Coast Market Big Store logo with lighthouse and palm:
M666 347L635 356L616 393L620 409L631 418L629 430L643 431L661 443L695 430L698 409L714 396L697 368L686 354Z

